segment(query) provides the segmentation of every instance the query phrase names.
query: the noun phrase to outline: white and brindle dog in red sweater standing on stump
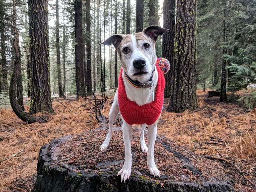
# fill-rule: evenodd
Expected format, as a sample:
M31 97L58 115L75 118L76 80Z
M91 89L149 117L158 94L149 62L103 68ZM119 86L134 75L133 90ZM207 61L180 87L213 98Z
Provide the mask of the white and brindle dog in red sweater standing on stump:
M141 124L141 150L147 154L149 172L160 178L160 171L154 162L154 145L157 122L163 107L163 90L165 80L160 68L155 64L157 57L155 43L159 35L170 31L152 25L142 32L128 35L112 35L100 45L113 44L118 52L121 71L119 84L109 112L109 129L100 150L107 149L113 133L113 122L120 112L123 120L123 139L125 145L124 165L117 175L124 182L131 175L132 124ZM148 147L144 139L144 130L148 125Z

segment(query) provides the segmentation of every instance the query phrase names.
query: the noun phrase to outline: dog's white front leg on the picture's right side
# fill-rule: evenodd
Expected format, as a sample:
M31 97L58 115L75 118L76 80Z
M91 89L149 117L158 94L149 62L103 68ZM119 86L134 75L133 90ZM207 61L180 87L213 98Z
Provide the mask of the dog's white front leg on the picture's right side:
M160 178L160 171L157 169L154 161L154 146L157 132L157 123L148 126L148 154L147 165L150 175L158 176Z

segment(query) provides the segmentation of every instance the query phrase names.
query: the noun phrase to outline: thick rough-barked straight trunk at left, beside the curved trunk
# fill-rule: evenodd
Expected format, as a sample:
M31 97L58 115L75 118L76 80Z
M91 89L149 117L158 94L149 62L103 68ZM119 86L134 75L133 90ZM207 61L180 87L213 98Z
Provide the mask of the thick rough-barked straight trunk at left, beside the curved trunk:
M28 0L31 43L30 113L54 113L51 106L47 0Z

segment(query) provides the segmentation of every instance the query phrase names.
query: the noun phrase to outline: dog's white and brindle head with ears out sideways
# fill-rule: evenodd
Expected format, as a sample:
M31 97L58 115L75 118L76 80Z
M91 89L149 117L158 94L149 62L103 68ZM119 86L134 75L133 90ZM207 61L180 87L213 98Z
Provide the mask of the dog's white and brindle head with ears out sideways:
M148 81L156 63L155 42L169 29L152 25L131 35L112 35L103 45L113 44L120 57L123 70L139 82Z

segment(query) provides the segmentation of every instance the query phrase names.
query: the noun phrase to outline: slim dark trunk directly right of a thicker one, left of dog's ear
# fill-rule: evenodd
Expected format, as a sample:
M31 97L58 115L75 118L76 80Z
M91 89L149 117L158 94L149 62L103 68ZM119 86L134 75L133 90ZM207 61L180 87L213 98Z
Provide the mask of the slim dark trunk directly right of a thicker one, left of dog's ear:
M87 71L87 94L93 94L92 87L92 56L91 56L91 1L86 0L86 71Z

